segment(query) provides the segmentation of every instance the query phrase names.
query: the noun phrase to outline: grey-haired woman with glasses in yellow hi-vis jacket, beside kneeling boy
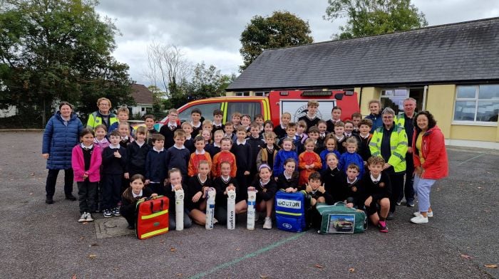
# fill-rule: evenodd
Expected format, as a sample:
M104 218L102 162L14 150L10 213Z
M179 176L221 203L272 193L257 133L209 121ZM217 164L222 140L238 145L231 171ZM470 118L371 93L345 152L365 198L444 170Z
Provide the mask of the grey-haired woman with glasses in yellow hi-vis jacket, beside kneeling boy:
M398 196L403 189L403 175L406 173L407 134L395 122L395 112L386 107L381 113L383 126L374 130L369 149L373 156L385 159L384 172L391 181L390 213L387 220L393 219Z

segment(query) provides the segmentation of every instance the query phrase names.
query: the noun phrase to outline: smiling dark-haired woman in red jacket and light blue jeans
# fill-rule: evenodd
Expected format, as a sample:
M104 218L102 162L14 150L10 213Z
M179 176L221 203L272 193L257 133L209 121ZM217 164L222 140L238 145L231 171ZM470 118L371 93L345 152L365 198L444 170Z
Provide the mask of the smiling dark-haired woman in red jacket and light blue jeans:
M418 212L412 223L428 223L433 217L430 204L431 186L437 179L448 176L446 144L442 131L430 112L418 112L414 118L412 141L413 161L416 169L414 190L418 194Z

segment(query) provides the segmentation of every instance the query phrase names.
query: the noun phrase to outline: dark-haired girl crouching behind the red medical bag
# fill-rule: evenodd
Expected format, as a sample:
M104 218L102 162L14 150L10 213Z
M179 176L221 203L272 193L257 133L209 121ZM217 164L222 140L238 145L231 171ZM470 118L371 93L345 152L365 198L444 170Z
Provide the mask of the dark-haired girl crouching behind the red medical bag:
M150 197L154 199L158 194L153 193L149 187L144 188L145 178L142 174L134 174L130 178L130 187L121 195L120 213L128 222L128 228L133 230L137 222L137 203Z

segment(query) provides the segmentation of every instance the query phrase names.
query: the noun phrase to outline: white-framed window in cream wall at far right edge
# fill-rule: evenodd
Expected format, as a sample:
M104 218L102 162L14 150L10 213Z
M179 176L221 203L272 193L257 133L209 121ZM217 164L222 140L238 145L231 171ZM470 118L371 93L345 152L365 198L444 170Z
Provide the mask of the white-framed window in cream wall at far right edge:
M454 121L497 122L498 114L499 84L457 87Z

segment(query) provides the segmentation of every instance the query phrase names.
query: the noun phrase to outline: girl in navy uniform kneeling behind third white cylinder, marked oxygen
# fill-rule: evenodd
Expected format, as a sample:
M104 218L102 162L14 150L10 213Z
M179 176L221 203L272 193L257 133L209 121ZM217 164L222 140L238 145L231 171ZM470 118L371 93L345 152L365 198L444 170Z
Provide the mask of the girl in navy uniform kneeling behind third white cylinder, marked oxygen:
M217 195L215 196L215 219L217 219L220 225L227 224L227 191L236 191L236 214L240 214L247 209L247 193L244 192L246 188L242 189L243 191L238 191L240 186L237 184L235 177L230 176L231 172L230 162L224 161L220 163L220 177L216 177L213 180L213 187L217 191ZM238 192L244 194L238 195Z

